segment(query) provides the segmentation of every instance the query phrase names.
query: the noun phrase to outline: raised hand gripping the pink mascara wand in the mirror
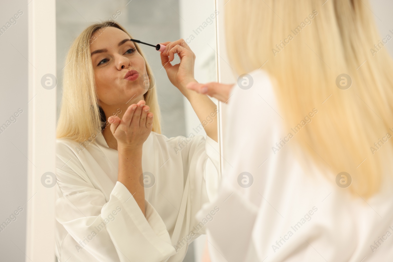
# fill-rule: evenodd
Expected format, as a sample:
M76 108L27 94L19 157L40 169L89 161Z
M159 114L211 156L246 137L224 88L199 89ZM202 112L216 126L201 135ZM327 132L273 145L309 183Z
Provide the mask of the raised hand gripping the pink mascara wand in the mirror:
M189 82L196 82L194 79L195 54L183 39L160 44L166 45L161 53L161 64L167 71L171 83L185 95L189 91L185 86ZM172 65L171 61L175 53L179 56L180 63Z

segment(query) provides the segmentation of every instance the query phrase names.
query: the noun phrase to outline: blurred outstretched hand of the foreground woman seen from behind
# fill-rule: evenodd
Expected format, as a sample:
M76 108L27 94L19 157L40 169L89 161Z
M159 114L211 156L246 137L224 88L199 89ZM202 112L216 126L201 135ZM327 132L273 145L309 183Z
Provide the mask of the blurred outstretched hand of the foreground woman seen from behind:
M221 102L228 103L229 94L233 88L233 84L220 84L217 82L210 82L207 84L199 84L191 82L187 84L187 88L194 90L201 94L206 94L215 97Z

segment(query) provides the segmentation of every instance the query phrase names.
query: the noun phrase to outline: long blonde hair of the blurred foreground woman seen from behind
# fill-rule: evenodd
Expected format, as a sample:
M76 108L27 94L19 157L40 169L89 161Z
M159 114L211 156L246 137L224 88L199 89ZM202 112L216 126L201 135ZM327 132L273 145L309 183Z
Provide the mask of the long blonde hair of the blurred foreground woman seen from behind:
M264 64L288 130L318 110L296 134L295 144L333 181L348 172L353 178L349 190L370 197L380 189L382 163L392 161L391 141L377 148L374 143L392 134L393 64L386 47L374 46L381 38L369 1L322 2L228 1L228 54L239 75ZM342 73L353 81L347 90L336 86Z

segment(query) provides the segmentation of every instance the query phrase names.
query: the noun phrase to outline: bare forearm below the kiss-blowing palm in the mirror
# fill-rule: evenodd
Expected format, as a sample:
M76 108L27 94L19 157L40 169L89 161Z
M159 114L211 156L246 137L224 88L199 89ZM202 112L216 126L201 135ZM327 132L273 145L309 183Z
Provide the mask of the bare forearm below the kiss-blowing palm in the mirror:
M119 152L118 181L130 191L145 215L145 188L140 183L142 172L142 149Z

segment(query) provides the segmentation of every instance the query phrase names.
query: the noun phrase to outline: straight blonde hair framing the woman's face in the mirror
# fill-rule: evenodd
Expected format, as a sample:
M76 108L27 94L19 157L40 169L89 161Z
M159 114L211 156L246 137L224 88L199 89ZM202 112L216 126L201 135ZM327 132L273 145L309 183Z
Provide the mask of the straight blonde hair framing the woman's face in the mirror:
M95 40L92 35L96 31L105 31L108 26L119 28L127 33L130 39L132 38L130 33L118 23L105 21L87 27L73 41L64 67L63 97L57 123L57 138L68 137L84 143L101 132L101 113L95 88L90 44ZM134 42L134 45L145 59L147 75L150 85L153 86L144 94L146 104L150 107L150 112L154 114L152 131L161 134L160 107L152 70L138 44Z

